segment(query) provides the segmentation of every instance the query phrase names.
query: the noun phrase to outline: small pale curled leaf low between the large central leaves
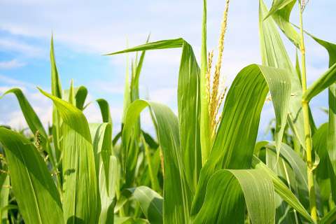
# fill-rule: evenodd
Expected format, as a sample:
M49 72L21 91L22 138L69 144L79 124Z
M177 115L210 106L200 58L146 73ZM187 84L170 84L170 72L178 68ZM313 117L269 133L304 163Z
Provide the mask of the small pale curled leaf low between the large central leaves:
M150 223L163 223L162 204L163 198L151 188L139 186L137 188L127 189L133 197L139 202L140 207Z

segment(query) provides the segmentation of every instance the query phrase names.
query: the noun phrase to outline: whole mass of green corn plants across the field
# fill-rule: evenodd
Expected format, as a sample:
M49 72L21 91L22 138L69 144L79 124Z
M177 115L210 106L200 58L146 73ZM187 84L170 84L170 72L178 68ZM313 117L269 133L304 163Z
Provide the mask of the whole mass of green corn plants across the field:
M0 127L1 223L336 223L336 45L304 30L307 4L274 0L267 9L259 1L262 64L242 68L227 91L218 78L229 1L214 76L206 0L200 66L183 38L148 37L144 45L107 54L139 52L125 74L118 133L105 99L90 102L99 106L102 123L88 123L86 87L71 81L62 88L51 40L51 92L38 88L53 103L48 129L22 90L2 96L15 94L32 134ZM294 6L299 25L289 21ZM295 62L281 36L297 49ZM309 86L304 38L329 54L329 69ZM177 115L139 99L145 52L169 48L181 49ZM328 123L316 127L309 102L326 89ZM257 142L267 99L275 113L273 141ZM155 135L141 129L144 109Z

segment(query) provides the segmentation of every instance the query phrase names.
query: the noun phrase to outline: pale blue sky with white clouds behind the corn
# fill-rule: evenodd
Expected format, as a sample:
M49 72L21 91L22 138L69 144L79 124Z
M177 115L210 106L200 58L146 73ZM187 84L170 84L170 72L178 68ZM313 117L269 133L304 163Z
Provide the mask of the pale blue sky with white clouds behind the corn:
M266 1L269 5L270 1ZM50 36L54 34L55 54L62 87L70 79L85 85L89 100L105 98L111 105L115 130L120 128L123 108L125 55L102 56L121 50L129 44L151 40L185 38L200 55L202 1L44 1L2 0L0 7L0 94L10 87L21 87L44 123L51 118L50 100L37 90L50 90ZM208 1L208 48L216 50L225 1ZM336 1L311 0L304 11L304 24L312 34L336 43ZM296 10L295 10L296 12ZM295 12L292 21L297 22ZM285 41L290 57L293 46ZM143 97L169 105L177 110L176 86L180 50L151 51L146 54L141 73ZM133 55L130 55L132 57ZM231 1L228 34L225 38L223 76L227 83L244 66L260 63L258 41L258 0ZM307 39L307 70L311 83L328 67L323 48ZM320 107L327 106L323 92L311 104L317 123L327 117ZM89 122L100 120L97 106L85 111ZM260 133L274 117L272 105L265 105ZM151 121L144 115L144 127L151 130ZM0 123L26 127L15 97L0 100Z

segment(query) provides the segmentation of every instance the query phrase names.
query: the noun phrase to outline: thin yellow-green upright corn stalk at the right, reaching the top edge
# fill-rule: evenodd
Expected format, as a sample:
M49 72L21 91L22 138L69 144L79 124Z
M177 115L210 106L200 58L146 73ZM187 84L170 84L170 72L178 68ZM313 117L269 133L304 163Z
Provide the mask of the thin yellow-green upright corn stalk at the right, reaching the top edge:
M304 48L304 36L303 36L303 22L302 22L302 4L301 0L299 2L300 11L300 50L301 50L301 63L302 63L302 94L307 90L307 78L306 78L306 52ZM311 160L311 130L309 124L309 104L307 101L302 100L302 112L304 118L304 143L306 145L306 155L307 155L307 177L308 177L308 193L309 193L309 204L310 204L310 215L311 218L317 221L317 211L316 211L316 196L314 188L314 174L313 174L313 162Z

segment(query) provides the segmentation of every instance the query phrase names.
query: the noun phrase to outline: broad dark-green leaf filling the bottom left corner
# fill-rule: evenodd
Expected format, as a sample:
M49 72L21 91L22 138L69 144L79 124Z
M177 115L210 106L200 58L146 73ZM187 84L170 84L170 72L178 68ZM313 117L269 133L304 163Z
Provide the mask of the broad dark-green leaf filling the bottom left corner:
M25 223L64 223L62 204L47 165L21 134L0 127L10 183Z

